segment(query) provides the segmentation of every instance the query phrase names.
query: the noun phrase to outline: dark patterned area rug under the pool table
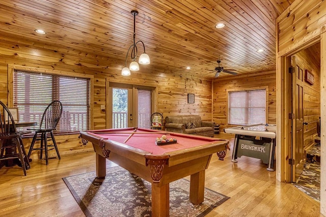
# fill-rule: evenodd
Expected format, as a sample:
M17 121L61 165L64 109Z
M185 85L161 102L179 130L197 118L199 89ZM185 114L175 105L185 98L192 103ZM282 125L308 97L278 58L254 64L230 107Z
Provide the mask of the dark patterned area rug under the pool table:
M121 167L63 178L86 216L151 216L151 183ZM204 216L229 197L205 188L204 202L189 202L189 181L170 183L170 216Z

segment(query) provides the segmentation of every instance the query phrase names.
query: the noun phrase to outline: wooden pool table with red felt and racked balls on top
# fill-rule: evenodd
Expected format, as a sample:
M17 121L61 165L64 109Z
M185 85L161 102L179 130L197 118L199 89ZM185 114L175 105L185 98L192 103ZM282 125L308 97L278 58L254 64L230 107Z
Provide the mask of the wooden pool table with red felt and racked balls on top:
M176 143L156 145L156 139L162 135L176 139ZM205 170L212 154L218 153L223 158L229 143L223 139L145 128L81 131L80 137L83 143L93 144L97 177L105 177L107 158L151 182L152 216L169 216L169 183L189 175L189 200L195 205L202 203Z

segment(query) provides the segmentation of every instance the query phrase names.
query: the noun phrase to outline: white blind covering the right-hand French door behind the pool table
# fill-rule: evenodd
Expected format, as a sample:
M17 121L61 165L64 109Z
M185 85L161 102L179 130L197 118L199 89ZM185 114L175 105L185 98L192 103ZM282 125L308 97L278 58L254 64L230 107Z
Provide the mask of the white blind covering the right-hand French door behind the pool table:
M152 91L138 89L138 127L150 128L152 115Z

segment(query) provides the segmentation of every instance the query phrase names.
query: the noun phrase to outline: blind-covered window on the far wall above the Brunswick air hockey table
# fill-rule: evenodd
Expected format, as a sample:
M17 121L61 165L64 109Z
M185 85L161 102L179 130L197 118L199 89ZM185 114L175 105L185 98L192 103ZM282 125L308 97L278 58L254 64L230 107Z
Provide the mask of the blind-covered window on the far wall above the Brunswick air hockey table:
M228 100L228 124L266 122L266 89L232 91Z

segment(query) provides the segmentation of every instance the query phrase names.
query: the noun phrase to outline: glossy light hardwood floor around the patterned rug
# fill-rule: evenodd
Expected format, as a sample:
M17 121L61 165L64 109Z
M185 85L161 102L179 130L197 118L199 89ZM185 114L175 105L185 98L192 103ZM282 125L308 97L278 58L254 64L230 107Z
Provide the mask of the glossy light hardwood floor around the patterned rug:
M232 135L215 137L229 139L232 150ZM261 160L242 156L233 163L231 156L228 151L221 161L214 155L206 170L205 186L230 197L207 216L323 216L318 202L292 184L277 181L276 172L268 172ZM0 216L85 216L62 177L94 170L94 153L50 159L48 166L33 160L27 176L17 166L3 167Z

